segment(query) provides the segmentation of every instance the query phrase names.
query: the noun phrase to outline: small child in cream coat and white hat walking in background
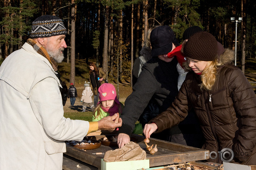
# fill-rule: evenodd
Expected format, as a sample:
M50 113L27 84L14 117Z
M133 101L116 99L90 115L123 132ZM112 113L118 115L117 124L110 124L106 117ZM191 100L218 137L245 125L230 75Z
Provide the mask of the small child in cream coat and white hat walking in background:
M93 93L92 93L92 89L90 87L90 82L84 82L83 86L84 86L84 90L83 90L82 98L80 99L80 101L83 102L82 112L86 112L86 111L88 111L88 110L86 110L87 106L89 106L91 110L93 110L95 108L95 106L92 103Z

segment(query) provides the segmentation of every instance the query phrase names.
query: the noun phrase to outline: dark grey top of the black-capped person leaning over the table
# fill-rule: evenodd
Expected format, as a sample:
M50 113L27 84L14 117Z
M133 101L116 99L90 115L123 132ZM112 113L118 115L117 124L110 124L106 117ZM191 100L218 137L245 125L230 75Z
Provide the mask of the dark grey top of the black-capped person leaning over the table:
M138 81L132 87L132 93L125 101L124 110L120 115L123 124L118 133L131 135L135 122L150 101L158 105L157 114L170 106L178 94L177 63L176 58L171 62L164 62L154 57L143 66Z

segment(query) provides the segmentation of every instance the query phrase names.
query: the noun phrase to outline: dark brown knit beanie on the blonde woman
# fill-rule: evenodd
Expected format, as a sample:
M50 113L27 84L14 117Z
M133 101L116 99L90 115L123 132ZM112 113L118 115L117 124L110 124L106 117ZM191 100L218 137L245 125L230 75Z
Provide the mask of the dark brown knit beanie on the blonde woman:
M213 61L217 57L217 40L209 32L197 32L188 38L184 54L188 58L200 61Z

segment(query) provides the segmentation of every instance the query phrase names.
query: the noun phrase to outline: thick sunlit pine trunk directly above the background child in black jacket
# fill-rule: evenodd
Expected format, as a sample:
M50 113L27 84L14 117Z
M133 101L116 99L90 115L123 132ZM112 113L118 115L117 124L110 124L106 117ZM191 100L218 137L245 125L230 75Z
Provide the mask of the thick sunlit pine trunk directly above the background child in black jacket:
M71 68L70 68L70 83L75 83L75 40L76 40L76 6L75 0L71 0Z

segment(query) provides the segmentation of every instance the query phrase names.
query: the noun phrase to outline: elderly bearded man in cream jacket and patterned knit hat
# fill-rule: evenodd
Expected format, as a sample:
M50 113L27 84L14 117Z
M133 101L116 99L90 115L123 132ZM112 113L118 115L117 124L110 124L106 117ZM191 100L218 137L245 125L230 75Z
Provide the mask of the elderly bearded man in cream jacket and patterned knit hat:
M55 70L66 33L57 16L38 17L27 42L0 67L0 169L62 170L65 140L122 124L119 114L98 122L63 117Z

